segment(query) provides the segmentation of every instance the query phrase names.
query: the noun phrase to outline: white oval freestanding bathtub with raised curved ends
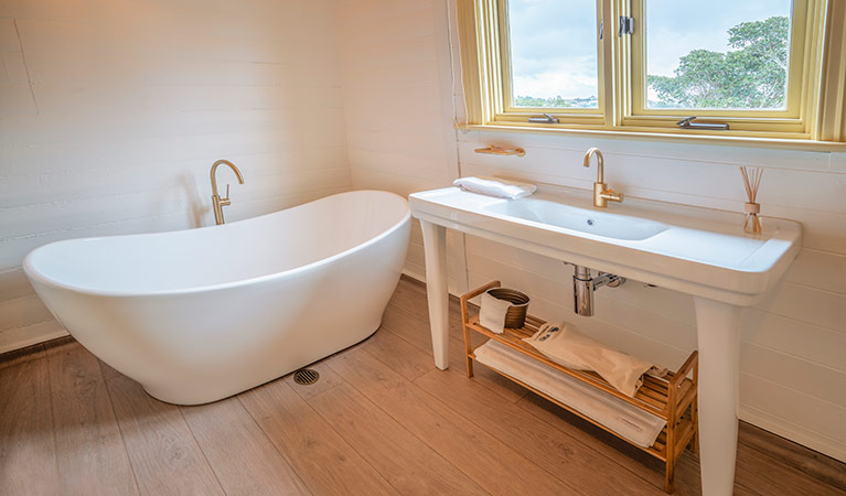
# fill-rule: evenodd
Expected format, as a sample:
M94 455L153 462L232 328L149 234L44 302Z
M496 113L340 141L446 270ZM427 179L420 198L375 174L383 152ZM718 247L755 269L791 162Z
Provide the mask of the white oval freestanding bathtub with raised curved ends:
M222 226L53 242L23 267L83 346L151 396L199 405L373 334L409 218L403 197L357 191Z

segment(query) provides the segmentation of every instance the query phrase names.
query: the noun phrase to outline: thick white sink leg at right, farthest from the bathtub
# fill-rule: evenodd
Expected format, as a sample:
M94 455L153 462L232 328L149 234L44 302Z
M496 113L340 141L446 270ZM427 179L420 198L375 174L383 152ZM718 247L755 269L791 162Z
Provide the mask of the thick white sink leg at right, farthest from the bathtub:
M740 308L694 296L699 342L699 470L703 496L735 487Z

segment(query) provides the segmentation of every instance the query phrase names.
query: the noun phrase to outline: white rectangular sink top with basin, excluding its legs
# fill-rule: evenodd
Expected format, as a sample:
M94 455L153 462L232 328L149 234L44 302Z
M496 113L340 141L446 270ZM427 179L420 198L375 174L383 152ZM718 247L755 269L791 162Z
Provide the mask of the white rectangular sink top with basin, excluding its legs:
M688 294L749 306L788 269L802 226L743 214L627 198L593 208L589 195L502 200L446 187L410 195L411 213L448 228Z

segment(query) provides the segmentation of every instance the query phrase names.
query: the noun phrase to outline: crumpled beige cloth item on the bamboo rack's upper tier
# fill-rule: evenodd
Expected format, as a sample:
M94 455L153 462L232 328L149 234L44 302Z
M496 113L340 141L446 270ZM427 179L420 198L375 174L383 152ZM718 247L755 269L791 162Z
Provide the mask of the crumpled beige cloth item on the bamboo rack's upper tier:
M593 370L620 392L634 398L643 385L643 375L664 377L666 368L608 348L581 334L567 322L546 323L532 337L523 341L556 364L574 370Z

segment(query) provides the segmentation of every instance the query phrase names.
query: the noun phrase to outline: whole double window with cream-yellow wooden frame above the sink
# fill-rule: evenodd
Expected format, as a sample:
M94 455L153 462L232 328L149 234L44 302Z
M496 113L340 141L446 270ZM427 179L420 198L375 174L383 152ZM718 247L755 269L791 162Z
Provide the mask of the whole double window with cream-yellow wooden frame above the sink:
M468 122L846 141L838 3L459 0Z

